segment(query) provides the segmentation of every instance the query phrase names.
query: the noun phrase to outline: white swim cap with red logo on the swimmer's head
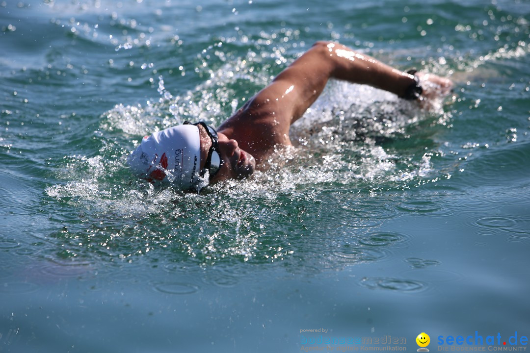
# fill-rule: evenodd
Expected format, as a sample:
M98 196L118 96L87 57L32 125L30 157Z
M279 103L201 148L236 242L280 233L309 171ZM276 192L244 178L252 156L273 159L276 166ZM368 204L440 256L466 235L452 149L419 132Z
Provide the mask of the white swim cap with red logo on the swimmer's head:
M173 183L182 190L197 187L200 137L195 125L177 125L153 133L127 157L134 173L149 181Z

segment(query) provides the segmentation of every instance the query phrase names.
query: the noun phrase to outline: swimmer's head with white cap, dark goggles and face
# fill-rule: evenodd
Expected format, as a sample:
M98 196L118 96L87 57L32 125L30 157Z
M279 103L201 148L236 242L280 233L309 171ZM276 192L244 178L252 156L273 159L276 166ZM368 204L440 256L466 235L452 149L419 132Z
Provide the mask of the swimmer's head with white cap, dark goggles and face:
M240 149L237 141L204 122L185 122L144 137L127 161L140 177L170 182L183 191L244 179L255 169L254 157Z

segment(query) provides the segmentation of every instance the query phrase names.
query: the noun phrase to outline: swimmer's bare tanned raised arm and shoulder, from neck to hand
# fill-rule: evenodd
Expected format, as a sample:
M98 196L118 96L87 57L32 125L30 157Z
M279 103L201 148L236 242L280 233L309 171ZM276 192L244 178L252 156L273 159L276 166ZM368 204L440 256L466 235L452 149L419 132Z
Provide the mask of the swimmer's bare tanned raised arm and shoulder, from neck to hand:
M322 93L330 78L365 84L405 99L431 96L433 87L449 90L451 81L436 75L417 77L334 42L316 42L219 126L218 131L250 152L258 163L278 144L290 145L289 128ZM438 89L438 92L443 89Z

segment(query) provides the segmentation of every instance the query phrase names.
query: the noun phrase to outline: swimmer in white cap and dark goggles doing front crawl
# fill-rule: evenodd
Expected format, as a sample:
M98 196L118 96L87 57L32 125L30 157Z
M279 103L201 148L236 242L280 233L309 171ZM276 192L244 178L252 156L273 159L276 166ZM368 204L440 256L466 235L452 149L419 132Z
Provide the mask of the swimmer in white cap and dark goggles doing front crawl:
M128 164L142 178L183 191L248 178L275 146L291 146L291 124L330 78L384 89L418 104L448 94L453 86L447 78L403 72L339 43L316 42L217 129L184 122L155 132L130 153Z

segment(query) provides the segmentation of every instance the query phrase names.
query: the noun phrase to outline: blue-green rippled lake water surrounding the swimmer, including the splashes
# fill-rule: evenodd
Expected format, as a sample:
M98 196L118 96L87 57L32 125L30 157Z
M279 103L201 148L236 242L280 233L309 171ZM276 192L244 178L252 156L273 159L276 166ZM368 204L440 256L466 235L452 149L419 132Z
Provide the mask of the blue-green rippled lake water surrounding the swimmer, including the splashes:
M1 1L0 351L526 348L529 21L525 0ZM267 173L200 195L130 174L143 135L218 125L317 40L454 96L332 82Z

